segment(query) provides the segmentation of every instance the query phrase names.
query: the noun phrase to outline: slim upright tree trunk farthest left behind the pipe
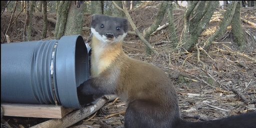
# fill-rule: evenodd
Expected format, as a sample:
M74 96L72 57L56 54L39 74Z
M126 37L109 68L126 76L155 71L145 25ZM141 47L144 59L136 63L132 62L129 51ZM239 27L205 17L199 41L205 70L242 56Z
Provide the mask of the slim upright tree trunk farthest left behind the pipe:
M35 1L29 1L29 10L28 10L28 23L26 27L26 40L31 41L31 25L32 25L32 16L33 16L33 5Z

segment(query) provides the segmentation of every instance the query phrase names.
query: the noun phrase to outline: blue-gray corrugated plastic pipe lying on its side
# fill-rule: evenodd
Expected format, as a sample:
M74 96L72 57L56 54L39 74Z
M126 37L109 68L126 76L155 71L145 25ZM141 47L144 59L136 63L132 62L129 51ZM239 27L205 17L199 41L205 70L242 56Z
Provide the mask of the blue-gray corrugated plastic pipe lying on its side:
M76 87L89 78L87 51L80 35L1 44L1 102L81 108Z

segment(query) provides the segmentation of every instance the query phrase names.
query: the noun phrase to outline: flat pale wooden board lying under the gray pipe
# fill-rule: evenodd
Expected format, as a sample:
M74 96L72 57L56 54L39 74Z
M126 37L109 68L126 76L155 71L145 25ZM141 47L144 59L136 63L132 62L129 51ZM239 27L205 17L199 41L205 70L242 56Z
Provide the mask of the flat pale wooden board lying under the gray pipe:
M3 116L61 119L74 109L55 105L1 103Z

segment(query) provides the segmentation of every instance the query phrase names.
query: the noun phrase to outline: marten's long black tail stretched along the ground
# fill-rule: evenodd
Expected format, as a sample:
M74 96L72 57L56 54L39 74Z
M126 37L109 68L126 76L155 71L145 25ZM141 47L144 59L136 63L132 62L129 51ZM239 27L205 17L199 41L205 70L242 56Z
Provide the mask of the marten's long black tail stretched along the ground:
M256 112L208 122L180 121L173 128L256 128Z

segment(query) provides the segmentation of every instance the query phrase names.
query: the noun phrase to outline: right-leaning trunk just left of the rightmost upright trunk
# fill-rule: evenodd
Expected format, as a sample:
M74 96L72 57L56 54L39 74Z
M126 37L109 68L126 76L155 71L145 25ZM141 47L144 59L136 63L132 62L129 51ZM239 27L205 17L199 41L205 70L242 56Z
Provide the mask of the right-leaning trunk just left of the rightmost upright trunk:
M233 15L234 15L234 10L236 8L238 1L233 1L227 6L227 10L224 14L224 17L221 19L221 23L216 29L216 31L210 35L210 37L205 41L204 43L204 49L207 49L208 46L211 44L211 42L215 39L218 38L218 36L222 35L223 32L226 30L226 27L230 24Z

